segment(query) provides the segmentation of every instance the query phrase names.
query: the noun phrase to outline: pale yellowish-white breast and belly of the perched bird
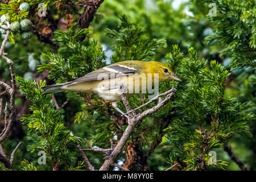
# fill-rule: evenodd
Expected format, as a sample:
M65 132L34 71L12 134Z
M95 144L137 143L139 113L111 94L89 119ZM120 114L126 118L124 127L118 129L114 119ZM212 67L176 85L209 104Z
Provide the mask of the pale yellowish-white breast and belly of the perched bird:
M120 94L132 95L135 93L151 93L156 78L146 73L134 74L117 78L96 81L81 81L64 85L61 89L76 92L96 92L104 100L121 100ZM120 89L122 86L122 89ZM122 92L122 93L121 93Z

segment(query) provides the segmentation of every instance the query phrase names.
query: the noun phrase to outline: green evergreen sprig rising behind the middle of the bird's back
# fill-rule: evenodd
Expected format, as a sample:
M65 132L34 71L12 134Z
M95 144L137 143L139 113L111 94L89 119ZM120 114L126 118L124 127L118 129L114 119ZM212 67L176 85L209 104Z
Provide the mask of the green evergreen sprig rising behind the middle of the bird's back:
M130 23L126 16L121 16L118 30L107 28L106 35L115 39L112 46L112 63L126 60L152 61L155 49L166 47L164 39L148 39L144 28Z

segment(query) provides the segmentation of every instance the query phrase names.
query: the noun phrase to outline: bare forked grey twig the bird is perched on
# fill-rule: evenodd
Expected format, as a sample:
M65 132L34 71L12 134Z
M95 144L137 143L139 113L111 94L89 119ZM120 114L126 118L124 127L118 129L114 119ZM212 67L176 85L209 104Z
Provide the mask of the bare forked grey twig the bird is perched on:
M161 94L161 96L166 96L163 100L162 98L159 99L159 102L157 105L152 107L151 109L145 110L142 113L135 114L134 110L131 109L129 101L127 101L125 95L121 95L122 102L126 107L127 113L129 113L129 120L130 123L127 126L126 130L123 132L123 135L117 145L115 146L114 150L110 154L109 158L106 158L105 162L102 164L100 171L108 170L109 166L112 166L114 163L114 160L117 158L119 153L122 151L123 146L125 146L128 138L130 137L131 133L135 129L135 127L139 124L139 122L142 121L148 114L155 113L158 111L161 107L163 107L167 102L170 100L170 98L174 95L176 92L175 88L172 88L171 90L168 90L167 92ZM160 98L160 96L158 97Z

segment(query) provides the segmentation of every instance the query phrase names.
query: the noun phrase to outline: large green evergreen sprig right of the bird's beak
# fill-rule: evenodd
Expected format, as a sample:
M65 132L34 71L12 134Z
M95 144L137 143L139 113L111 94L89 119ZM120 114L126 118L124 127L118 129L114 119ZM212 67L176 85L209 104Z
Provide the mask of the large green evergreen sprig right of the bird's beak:
M174 122L166 130L173 150L170 162L184 163L184 169L200 169L204 161L209 165L208 152L221 147L234 134L252 137L249 122L254 115L248 111L251 104L225 97L224 84L230 73L223 66L210 61L207 68L208 61L200 60L193 48L188 50L188 57L183 58L174 46L166 57L170 65L179 63L177 76L183 80L179 85L182 89L176 93ZM214 167L227 166L221 160L217 164Z

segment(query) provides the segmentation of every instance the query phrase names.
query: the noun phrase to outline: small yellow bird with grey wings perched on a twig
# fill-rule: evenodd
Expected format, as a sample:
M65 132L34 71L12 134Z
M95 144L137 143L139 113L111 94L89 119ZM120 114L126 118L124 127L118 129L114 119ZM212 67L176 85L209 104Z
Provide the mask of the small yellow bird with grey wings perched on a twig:
M117 107L121 94L147 93L152 85L164 80L181 81L167 65L157 61L121 61L97 69L76 80L63 84L42 87L44 94L65 90L76 92L95 92L104 100L113 101L113 107L129 117ZM158 85L157 85L158 86ZM121 90L121 92L120 92Z

